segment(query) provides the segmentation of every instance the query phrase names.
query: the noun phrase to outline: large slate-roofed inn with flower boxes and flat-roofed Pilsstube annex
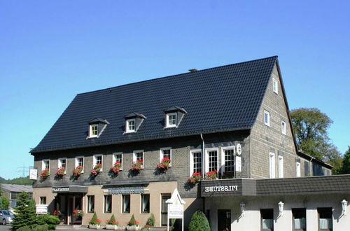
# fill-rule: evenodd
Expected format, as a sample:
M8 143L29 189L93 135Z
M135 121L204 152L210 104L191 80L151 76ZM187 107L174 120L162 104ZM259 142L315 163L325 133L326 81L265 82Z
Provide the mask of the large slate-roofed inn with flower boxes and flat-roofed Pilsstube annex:
M212 230L350 225L350 176L330 176L330 165L298 151L277 57L78 94L31 155L44 176L34 198L64 223L86 225L96 212L144 225L153 213L164 226L177 188L185 226L197 209ZM158 168L162 158L169 169Z

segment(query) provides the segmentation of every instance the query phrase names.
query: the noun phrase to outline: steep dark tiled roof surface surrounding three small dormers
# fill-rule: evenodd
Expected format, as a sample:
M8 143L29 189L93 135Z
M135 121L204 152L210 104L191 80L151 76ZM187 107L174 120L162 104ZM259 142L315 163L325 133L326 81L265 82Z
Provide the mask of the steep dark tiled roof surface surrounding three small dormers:
M276 61L267 57L78 94L31 153L250 129ZM188 113L179 127L165 129L164 110L174 105ZM124 134L124 116L133 111L147 118L138 132ZM110 124L99 138L86 139L93 118Z

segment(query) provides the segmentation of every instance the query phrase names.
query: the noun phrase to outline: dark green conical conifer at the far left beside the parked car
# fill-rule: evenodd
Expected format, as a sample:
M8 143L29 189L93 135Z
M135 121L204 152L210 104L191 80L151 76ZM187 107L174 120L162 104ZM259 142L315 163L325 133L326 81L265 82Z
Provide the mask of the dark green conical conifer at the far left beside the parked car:
M18 194L17 207L14 210L16 216L11 224L13 230L23 226L33 227L36 224L35 202L31 200L29 193Z

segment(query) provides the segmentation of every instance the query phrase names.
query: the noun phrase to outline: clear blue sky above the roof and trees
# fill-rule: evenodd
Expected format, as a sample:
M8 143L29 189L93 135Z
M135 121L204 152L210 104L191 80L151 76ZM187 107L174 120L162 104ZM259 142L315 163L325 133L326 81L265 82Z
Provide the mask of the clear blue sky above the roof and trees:
M347 1L0 1L0 176L81 92L279 55L290 109L349 141Z

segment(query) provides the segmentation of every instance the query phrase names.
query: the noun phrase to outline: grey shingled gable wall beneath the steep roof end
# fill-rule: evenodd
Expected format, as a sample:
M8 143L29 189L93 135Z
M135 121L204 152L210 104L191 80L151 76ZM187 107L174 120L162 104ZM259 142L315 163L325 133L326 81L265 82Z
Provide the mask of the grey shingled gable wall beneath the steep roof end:
M272 90L272 78L278 82L278 94ZM275 64L265 97L251 130L251 178L253 179L269 178L270 152L274 153L276 158L276 178L278 178L279 171L279 155L283 155L284 177L296 176L296 160L299 157L296 154L284 97L281 77L277 64ZM264 123L264 110L270 113L270 127ZM281 133L281 120L286 122L286 135ZM301 176L304 176L304 160L301 160L300 164Z

